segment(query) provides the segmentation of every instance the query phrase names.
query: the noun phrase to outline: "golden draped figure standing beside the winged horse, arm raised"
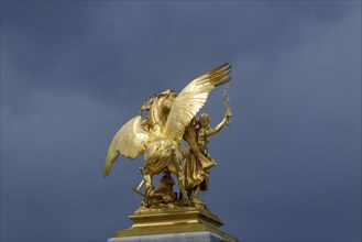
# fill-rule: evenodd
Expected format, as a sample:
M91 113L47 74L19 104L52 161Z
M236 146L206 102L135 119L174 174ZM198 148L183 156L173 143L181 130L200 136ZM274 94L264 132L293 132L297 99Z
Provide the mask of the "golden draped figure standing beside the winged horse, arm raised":
M202 113L199 120L194 119L191 125L185 132L185 140L190 145L186 162L185 188L193 204L197 207L206 207L198 197L200 190L208 190L209 169L217 165L217 162L208 153L209 136L218 133L224 125L229 124L231 110L226 109L222 121L213 129L210 128L210 116Z

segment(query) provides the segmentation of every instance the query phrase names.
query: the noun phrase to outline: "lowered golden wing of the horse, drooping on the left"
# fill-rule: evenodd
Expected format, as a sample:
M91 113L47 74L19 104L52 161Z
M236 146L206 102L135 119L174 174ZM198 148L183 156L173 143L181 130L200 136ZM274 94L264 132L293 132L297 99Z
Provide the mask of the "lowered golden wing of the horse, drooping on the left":
M116 133L108 148L103 178L109 175L120 154L128 158L135 158L144 152L149 132L141 128L141 116L134 117Z

